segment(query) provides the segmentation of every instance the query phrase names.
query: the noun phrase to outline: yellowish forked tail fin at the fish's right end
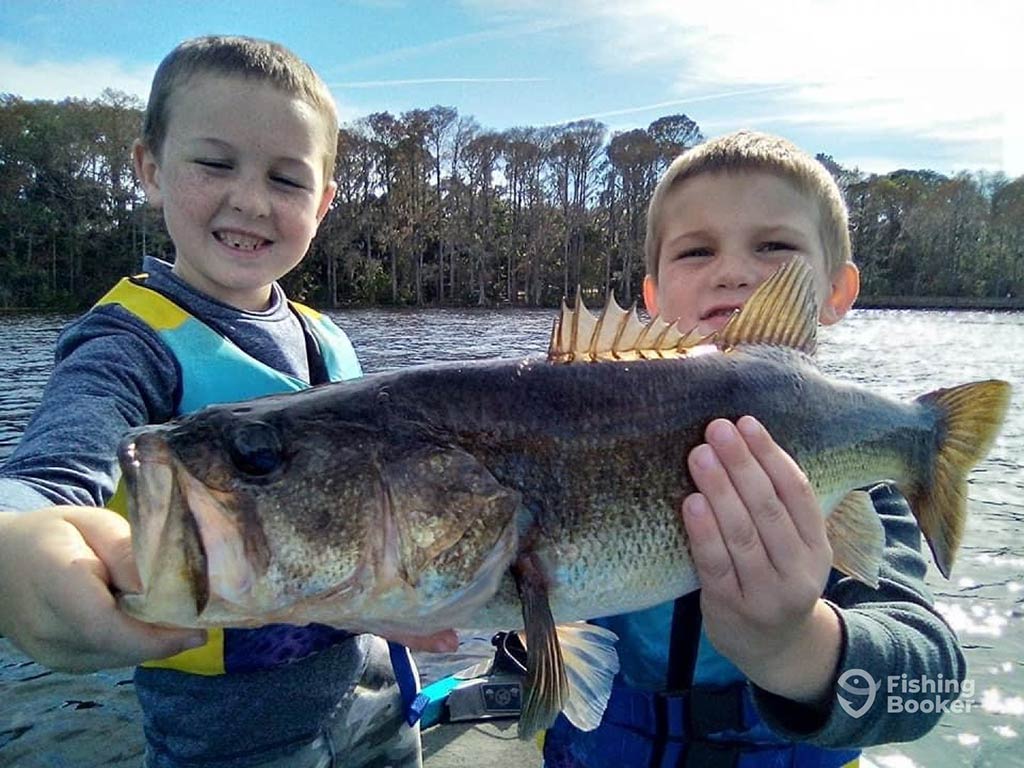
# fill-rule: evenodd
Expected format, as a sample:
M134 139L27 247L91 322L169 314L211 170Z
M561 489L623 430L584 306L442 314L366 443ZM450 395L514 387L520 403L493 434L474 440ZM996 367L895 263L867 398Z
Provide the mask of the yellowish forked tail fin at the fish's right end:
M949 578L967 522L967 475L991 447L1010 406L1010 385L988 380L937 389L919 403L939 414L939 444L911 507L935 564Z

